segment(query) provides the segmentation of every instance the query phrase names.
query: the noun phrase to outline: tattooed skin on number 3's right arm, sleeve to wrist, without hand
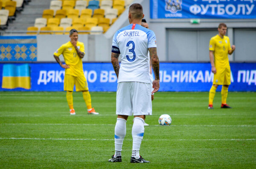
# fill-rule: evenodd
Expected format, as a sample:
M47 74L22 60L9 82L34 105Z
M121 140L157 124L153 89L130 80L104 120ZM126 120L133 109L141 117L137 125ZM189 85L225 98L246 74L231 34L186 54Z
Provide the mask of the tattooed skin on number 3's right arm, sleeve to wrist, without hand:
M159 59L157 56L157 48L148 48L148 51L149 51L151 64L152 64L152 68L155 75L155 80L160 80L159 79Z

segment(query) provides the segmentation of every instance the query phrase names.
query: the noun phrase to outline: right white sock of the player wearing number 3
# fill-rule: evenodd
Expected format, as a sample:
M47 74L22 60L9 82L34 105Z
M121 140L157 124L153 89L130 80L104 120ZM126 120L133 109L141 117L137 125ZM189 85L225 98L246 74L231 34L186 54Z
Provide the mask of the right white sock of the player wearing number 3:
M145 121L140 117L134 118L134 124L132 126L131 134L133 138L132 143L132 157L136 159L140 158L140 145L144 135L144 123Z

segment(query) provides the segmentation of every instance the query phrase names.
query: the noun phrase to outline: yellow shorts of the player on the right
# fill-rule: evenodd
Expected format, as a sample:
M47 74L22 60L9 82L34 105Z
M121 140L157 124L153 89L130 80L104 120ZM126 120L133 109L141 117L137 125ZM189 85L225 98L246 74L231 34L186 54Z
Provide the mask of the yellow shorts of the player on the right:
M213 84L215 85L230 85L230 68L216 68L216 73L213 77Z

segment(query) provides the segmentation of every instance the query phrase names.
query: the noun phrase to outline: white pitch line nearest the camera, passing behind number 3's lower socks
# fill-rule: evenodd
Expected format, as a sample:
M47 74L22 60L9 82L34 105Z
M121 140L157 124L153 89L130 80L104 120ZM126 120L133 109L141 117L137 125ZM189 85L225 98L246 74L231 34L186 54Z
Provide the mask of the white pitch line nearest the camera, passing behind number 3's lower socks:
M113 141L114 139L95 139L95 138L0 138L0 140L95 140L95 141ZM132 141L131 139L125 139ZM254 141L255 138L248 139L145 139L143 141Z

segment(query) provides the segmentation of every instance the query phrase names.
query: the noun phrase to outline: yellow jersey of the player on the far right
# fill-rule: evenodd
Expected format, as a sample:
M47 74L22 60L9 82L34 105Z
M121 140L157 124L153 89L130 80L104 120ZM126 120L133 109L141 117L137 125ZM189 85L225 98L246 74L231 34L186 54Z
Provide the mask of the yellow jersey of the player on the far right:
M230 67L228 61L228 51L231 50L229 37L224 36L221 38L218 34L212 37L209 43L209 50L213 51L215 67Z

